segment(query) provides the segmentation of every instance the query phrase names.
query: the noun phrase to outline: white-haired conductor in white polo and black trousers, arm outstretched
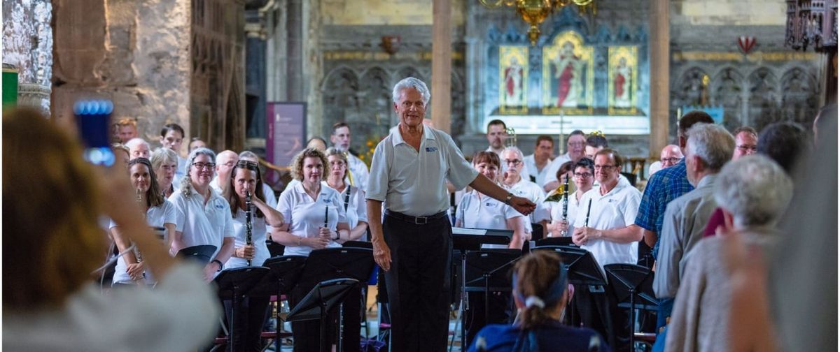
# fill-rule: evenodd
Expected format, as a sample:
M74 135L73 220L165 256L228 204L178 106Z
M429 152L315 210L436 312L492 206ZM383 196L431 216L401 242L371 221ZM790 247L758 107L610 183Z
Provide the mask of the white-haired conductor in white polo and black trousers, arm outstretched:
M376 146L367 185L374 259L386 271L395 351L446 349L452 251L446 181L456 189L469 184L524 215L535 207L479 175L448 134L423 126L430 98L422 80L409 77L394 86L400 124Z

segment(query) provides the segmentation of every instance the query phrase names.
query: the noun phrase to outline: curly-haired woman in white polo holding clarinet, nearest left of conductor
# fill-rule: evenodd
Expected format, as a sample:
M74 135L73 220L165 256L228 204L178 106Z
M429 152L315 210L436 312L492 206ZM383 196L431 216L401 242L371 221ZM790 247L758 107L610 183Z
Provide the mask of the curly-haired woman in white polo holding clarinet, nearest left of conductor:
M339 192L321 182L327 164L327 158L315 148L303 149L291 160L291 177L300 182L280 194L277 210L286 224L276 227L271 234L272 240L286 246L285 256L309 256L312 250L340 247L339 243L349 238L350 229ZM291 292L291 303L300 302L310 289L312 287L297 285ZM360 302L360 290L351 290L346 299L347 302ZM360 324L350 324L359 320L359 306L344 306L343 345L347 351L360 349ZM292 323L295 351L317 351L321 344L317 338L320 327L318 320ZM334 324L329 324L328 329L334 329ZM328 333L328 336L334 335ZM324 342L333 343L333 339Z

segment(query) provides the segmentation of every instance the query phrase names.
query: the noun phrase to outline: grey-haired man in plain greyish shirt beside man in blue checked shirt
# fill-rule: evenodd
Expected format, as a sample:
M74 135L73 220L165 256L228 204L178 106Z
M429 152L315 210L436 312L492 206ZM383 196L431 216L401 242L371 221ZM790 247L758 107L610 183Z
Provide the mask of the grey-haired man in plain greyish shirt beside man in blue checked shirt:
M654 274L657 298L676 296L680 272L685 268L685 254L703 238L706 223L717 208L714 199L717 173L732 158L735 148L735 138L719 125L699 123L687 134L685 176L695 189L672 200L665 208ZM667 309L659 313L670 315Z

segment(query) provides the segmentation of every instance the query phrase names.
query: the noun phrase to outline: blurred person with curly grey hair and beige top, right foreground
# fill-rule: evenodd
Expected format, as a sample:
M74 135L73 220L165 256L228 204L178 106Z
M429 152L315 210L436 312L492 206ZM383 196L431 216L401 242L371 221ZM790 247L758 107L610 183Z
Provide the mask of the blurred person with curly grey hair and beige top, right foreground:
M738 304L732 300L732 287L749 279L738 275L743 269L763 266L760 253L777 236L772 226L787 208L792 188L785 170L764 156L738 158L722 168L714 197L723 208L728 234L700 241L686 256L665 350L774 350L769 329L754 329L753 334L763 335L756 339L759 344L739 348L732 344L735 339L729 317L736 307L733 304ZM732 256L736 253L740 254ZM750 260L732 261L735 257ZM758 290L766 292L766 287ZM756 323L748 320L744 324Z

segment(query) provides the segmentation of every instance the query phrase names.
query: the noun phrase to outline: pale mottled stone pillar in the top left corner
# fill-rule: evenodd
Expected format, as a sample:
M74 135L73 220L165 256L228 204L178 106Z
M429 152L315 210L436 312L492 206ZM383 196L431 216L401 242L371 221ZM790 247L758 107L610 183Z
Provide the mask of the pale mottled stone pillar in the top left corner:
M53 65L52 2L3 0L3 63L18 69L18 105L49 115Z

